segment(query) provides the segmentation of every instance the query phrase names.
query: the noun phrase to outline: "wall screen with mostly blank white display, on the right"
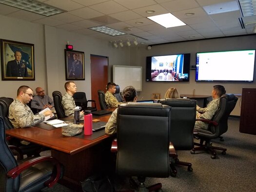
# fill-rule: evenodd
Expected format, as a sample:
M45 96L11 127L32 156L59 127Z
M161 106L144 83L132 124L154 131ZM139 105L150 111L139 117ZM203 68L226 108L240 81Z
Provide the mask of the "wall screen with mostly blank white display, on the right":
M196 81L254 81L255 50L196 55Z

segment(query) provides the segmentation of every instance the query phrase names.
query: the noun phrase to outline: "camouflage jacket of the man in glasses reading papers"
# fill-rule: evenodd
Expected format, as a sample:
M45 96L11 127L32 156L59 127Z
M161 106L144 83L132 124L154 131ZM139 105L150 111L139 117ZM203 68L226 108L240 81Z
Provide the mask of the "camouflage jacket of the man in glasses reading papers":
M19 128L29 127L37 123L41 123L45 116L43 114L34 115L27 105L24 105L16 98L9 107L8 118L10 119L14 128Z

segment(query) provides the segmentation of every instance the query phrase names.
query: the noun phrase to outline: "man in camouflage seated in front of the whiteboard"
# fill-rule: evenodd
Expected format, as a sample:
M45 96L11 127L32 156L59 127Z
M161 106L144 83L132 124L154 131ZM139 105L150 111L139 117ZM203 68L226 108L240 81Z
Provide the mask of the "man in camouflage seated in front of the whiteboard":
M118 102L118 99L113 95L114 93L116 93L116 84L109 82L105 93L105 101L108 108L117 108L119 104L122 104L122 102Z

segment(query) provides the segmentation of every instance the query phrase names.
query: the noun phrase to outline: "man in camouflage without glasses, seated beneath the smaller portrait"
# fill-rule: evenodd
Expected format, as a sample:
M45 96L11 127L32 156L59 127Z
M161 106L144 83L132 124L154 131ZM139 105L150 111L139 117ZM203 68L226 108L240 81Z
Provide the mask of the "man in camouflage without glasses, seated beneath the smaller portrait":
M73 81L67 81L64 85L66 94L62 96L61 105L65 111L66 116L72 116L75 113L76 107L73 95L77 92L77 86ZM80 118L83 118L83 111L80 112Z

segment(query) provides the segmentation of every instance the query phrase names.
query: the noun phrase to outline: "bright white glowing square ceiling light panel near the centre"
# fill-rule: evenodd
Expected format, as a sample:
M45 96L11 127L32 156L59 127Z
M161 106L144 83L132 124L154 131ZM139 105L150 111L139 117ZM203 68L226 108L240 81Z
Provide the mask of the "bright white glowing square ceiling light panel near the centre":
M171 13L147 17L165 28L186 25Z

